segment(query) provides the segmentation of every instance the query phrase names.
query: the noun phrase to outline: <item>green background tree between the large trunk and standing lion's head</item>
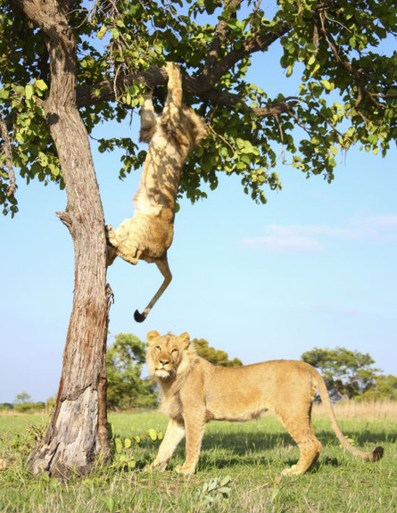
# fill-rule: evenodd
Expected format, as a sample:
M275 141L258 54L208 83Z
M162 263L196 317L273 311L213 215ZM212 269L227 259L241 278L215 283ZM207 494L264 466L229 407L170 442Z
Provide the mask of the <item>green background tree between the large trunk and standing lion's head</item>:
M106 354L107 402L114 410L154 406L158 394L154 385L141 377L146 343L135 335L120 333Z

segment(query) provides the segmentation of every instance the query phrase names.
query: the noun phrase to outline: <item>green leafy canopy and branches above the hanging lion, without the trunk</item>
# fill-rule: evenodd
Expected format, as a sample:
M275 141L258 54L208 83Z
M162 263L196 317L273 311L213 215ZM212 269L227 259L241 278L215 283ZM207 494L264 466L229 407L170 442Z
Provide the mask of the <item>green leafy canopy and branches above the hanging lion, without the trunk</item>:
M64 186L45 120L51 70L45 37L22 13L33 0L0 0L0 203L18 210L15 169ZM355 143L385 154L397 136L393 0L97 0L62 3L77 44L77 103L88 132L124 121L145 87L166 83L164 62L184 70L186 103L208 121L211 136L187 163L181 194L194 201L218 172L236 173L245 192L266 201L281 187L277 161L334 177L335 156ZM280 51L285 91L267 91L272 69L251 82L256 54ZM288 78L299 86L288 92ZM161 108L164 90L156 91ZM145 152L128 137L99 141L124 150L121 177L141 167Z

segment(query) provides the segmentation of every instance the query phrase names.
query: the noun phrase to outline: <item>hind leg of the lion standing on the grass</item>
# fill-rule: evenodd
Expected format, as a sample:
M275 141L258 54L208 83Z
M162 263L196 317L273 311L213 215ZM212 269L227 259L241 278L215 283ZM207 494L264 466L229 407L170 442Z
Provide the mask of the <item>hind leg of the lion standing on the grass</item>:
M311 425L311 402L302 405L300 409L297 404L290 405L283 411L276 411L277 417L285 426L285 429L298 444L300 456L298 462L292 467L283 470L283 476L299 476L304 474L318 460L322 445L316 438Z

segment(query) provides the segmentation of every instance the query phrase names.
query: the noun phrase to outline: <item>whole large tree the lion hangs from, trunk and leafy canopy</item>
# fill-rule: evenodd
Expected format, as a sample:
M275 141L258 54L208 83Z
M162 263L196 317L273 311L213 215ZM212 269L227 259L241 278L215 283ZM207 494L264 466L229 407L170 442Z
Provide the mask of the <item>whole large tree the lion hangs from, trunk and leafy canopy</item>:
M87 473L106 457L106 286L104 217L88 135L125 120L145 86L166 84L162 66L179 62L185 100L208 120L211 137L187 163L180 193L192 201L217 172L236 173L265 202L281 187L278 157L308 176L332 180L335 154L360 143L385 154L395 141L395 56L376 47L396 32L393 0L280 0L264 12L250 0L0 0L0 203L14 215L17 179L54 180L68 203L58 215L75 249L74 300L54 417L30 458L35 473ZM254 54L282 50L294 95L269 97L246 79ZM295 86L294 86L295 89ZM161 108L161 92L159 108ZM103 138L125 150L120 176L145 153L128 137ZM79 433L79 436L77 436Z

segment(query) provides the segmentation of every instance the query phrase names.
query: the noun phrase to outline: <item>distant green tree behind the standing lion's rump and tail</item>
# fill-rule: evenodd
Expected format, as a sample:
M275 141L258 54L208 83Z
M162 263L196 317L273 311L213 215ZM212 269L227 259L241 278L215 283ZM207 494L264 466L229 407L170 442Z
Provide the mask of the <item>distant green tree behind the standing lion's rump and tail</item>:
M302 360L310 363L326 382L331 398L352 399L372 389L376 383L378 368L368 353L349 351L343 347L318 349L304 352Z

